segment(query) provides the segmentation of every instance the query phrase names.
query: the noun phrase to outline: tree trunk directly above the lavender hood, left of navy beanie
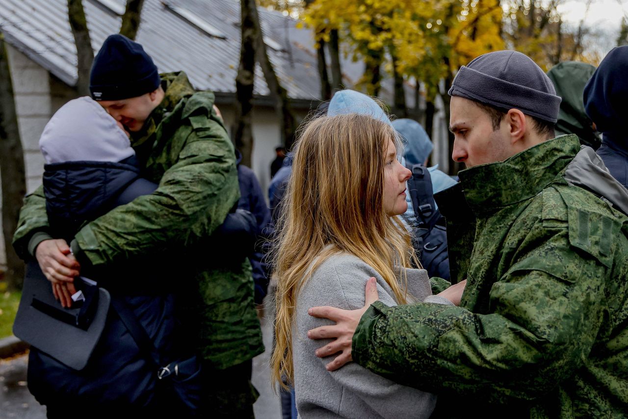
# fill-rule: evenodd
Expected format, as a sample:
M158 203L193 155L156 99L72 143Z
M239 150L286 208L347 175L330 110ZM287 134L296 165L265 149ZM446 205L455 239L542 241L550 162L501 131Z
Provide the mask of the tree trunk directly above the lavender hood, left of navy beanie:
M82 96L89 96L89 73L94 61L94 50L89 38L87 19L81 0L68 0L68 19L77 46L77 90Z

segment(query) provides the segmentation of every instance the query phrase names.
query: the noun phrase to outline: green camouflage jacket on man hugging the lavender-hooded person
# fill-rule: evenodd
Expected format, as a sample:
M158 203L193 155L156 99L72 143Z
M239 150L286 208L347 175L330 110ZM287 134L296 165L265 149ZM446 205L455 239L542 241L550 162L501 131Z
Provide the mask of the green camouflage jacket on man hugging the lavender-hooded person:
M141 176L159 183L86 224L72 241L92 271L139 266L155 286L180 291L190 333L212 366L225 368L263 351L253 302L251 266L212 242L211 234L237 204L236 158L213 110L214 94L196 92L183 72L161 75L165 98L131 138ZM42 188L26 197L14 247L23 258L36 232L48 227ZM114 275L114 274L111 274Z

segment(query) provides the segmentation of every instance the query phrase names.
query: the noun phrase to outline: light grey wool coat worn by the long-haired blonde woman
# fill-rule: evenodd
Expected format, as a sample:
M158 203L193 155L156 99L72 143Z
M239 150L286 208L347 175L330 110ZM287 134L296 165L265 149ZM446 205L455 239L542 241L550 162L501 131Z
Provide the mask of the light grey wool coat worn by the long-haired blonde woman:
M425 269L406 269L406 275L409 302L449 303L445 298L431 295ZM381 275L350 254L330 256L303 285L292 328L296 408L300 418L428 418L434 410L435 395L396 384L355 362L337 371L327 371L325 365L333 356L318 358L315 351L330 340L307 337L308 330L333 324L327 319L311 317L308 308L364 307L364 289L371 276L377 279L379 300L391 307L397 305L393 290Z

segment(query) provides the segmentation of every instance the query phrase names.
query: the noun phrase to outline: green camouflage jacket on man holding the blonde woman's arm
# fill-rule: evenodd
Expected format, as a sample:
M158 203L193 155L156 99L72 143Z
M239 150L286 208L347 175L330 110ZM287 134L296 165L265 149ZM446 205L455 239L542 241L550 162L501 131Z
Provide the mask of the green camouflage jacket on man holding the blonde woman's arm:
M376 302L354 360L442 395L448 417L628 415L628 219L566 182L578 149L561 136L461 171L460 307Z

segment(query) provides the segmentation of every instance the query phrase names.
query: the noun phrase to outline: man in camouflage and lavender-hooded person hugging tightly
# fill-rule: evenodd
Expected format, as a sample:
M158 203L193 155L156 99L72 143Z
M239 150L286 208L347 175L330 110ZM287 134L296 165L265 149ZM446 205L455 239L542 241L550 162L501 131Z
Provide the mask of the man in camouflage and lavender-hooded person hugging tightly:
M36 259L66 310L79 275L112 304L83 369L33 348L31 393L48 417L252 418L251 359L263 344L248 249L229 230L240 215L236 156L214 94L183 72L160 75L121 35L95 57L90 90L46 125L43 187L25 199L14 247ZM193 406L156 366L187 357L202 366L185 395Z

